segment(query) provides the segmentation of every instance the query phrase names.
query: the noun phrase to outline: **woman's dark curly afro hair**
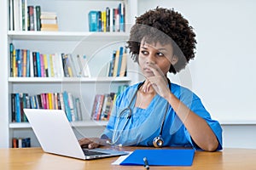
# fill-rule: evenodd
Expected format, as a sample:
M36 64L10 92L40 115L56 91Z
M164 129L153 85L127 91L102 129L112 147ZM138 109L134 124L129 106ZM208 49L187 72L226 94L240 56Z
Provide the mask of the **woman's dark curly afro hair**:
M131 58L138 62L138 54L142 40L148 43L160 42L162 45L172 43L173 54L177 56L177 64L171 65L169 72L176 74L195 58L195 33L188 20L174 9L154 8L137 17L136 24L131 27L127 48Z

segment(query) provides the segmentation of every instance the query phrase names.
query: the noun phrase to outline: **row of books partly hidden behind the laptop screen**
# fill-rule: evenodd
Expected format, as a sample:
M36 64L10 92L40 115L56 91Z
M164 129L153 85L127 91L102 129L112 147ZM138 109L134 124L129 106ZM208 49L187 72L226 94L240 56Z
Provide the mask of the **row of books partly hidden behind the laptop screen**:
M63 110L69 122L82 121L80 99L70 92L42 93L29 95L26 93L12 93L11 120L12 122L28 122L23 109Z

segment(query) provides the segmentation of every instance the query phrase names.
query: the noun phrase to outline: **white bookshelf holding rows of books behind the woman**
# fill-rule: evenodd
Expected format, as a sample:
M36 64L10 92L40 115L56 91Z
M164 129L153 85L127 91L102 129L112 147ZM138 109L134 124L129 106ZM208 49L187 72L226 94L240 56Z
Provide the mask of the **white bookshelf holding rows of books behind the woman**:
M119 86L136 82L137 77L132 75L132 70L136 68L127 62L127 69L131 70L131 74L127 71L127 77L104 75L105 63L111 59L113 49L124 46L129 37L129 24L125 24L125 32L90 32L87 17L91 9L103 10L107 6L114 8L120 2L125 3L125 23L133 22L137 15L137 1L27 0L28 5L40 5L45 11L56 12L59 31L10 31L9 0L1 1L0 21L3 26L0 28L0 34L3 38L0 42L0 54L3 56L3 67L0 73L0 148L11 147L14 137L30 137L32 146L39 145L28 122L11 122L12 93L40 94L63 90L71 92L81 99L84 116L83 121L71 122L75 131L93 137L102 133L107 122L90 120L95 94L117 92ZM10 42L15 48L39 50L44 54L85 54L89 58L91 77L10 77Z

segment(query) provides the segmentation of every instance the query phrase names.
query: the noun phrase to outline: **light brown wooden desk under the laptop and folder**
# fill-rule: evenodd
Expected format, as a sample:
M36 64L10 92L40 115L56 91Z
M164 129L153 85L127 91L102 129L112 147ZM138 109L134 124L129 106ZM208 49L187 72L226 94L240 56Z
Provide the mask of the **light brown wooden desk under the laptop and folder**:
M141 149L123 147L123 150ZM41 148L0 149L0 168L3 170L77 170L77 169L144 169L143 166L111 165L118 157L83 161L44 153ZM153 167L150 169L256 169L256 150L224 149L218 152L196 151L192 167Z

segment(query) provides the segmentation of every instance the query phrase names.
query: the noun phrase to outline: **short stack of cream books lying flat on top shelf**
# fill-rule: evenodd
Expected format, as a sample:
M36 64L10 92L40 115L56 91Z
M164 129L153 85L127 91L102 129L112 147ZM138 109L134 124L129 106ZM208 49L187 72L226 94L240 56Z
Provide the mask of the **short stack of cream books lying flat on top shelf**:
M54 12L41 12L41 31L58 31L57 14Z

